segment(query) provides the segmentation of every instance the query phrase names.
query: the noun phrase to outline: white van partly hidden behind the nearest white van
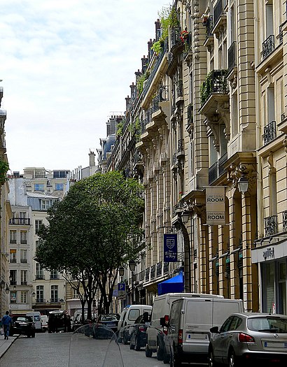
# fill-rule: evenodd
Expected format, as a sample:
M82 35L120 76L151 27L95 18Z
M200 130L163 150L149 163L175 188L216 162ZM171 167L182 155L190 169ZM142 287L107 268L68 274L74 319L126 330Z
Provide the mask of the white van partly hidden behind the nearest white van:
M169 323L169 313L172 303L181 297L201 297L205 298L223 298L217 294L199 294L199 293L167 293L156 296L153 301L153 311L151 312L151 328L146 331L146 357L152 357L156 352L158 361L169 363L169 349L165 347L167 338L167 326ZM155 329L156 328L156 329ZM158 333L160 329L163 333Z

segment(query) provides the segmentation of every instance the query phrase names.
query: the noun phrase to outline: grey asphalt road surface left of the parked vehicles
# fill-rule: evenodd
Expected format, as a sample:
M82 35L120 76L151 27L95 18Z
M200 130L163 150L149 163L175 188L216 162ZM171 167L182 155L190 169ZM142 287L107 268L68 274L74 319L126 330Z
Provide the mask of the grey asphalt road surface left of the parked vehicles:
M1 367L164 367L155 357L146 358L144 349L109 340L75 338L72 333L36 333L35 338L20 336L0 359ZM106 361L104 364L104 358ZM123 359L122 359L123 357Z

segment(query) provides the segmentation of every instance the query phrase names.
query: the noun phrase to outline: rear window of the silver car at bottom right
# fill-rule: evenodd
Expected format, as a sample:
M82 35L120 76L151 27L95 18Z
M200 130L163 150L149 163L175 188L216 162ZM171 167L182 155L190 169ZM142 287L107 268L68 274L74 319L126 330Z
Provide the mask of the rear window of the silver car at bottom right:
M248 319L248 329L252 331L266 331L269 333L287 333L287 317L256 317Z

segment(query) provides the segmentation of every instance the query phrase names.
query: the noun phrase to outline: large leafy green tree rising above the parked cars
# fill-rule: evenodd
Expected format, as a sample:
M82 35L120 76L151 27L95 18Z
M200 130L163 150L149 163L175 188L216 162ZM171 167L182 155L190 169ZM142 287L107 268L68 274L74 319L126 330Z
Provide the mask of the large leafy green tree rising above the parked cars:
M104 312L109 312L118 267L137 257L143 236L142 191L137 180L119 172L96 173L76 182L48 210L49 224L39 230L36 261L60 271L80 291L88 318L97 287Z

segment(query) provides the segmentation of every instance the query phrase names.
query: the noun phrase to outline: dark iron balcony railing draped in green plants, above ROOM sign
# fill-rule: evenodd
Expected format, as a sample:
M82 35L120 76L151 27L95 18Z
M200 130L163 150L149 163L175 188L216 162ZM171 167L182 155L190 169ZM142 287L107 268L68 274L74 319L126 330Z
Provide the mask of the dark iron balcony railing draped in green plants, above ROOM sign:
M207 103L213 94L218 96L226 96L228 94L226 74L226 70L213 70L207 75L207 78L200 87L200 101L202 106Z

